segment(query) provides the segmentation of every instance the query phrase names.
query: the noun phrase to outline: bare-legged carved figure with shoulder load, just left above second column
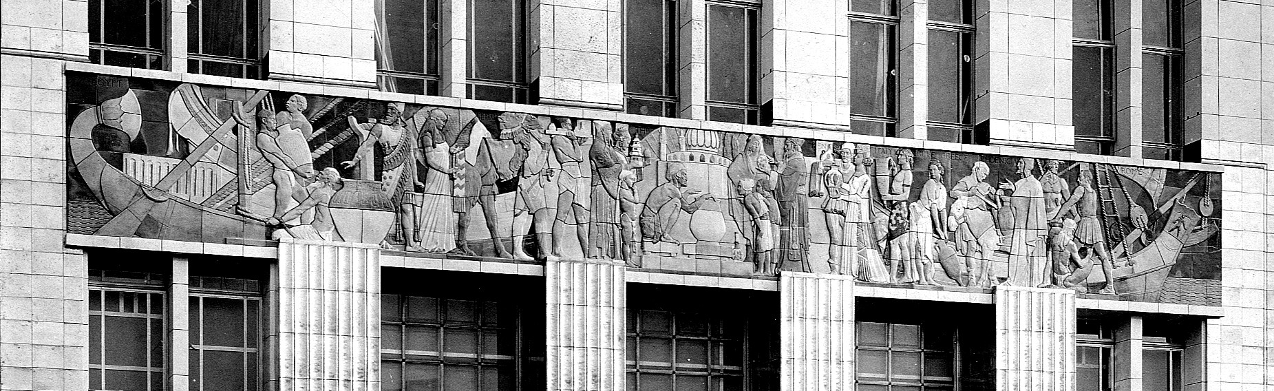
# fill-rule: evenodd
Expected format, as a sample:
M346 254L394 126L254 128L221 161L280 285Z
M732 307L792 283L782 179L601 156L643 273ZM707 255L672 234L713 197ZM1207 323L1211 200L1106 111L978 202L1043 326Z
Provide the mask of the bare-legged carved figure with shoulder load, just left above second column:
M534 231L539 256L557 259L552 253L553 220L557 215L557 185L549 167L549 136L539 118L526 113L506 112L497 118L502 132L513 140L513 158L508 162L517 172L517 195L513 199L513 257L533 260L526 253L525 239Z

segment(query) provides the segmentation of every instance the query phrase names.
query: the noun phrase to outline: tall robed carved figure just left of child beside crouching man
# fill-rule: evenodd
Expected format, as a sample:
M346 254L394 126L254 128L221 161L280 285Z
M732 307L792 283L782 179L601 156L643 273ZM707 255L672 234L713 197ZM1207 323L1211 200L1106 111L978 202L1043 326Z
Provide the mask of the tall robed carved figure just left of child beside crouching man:
M589 160L592 163L592 209L589 227L589 246L586 253L590 259L614 259L622 252L620 242L627 236L615 237L617 224L619 224L620 203L620 173L627 166L624 148L627 148L628 131L615 131L610 124L603 122L594 126L594 141L589 148ZM629 188L631 190L631 188ZM634 215L636 218L636 215Z

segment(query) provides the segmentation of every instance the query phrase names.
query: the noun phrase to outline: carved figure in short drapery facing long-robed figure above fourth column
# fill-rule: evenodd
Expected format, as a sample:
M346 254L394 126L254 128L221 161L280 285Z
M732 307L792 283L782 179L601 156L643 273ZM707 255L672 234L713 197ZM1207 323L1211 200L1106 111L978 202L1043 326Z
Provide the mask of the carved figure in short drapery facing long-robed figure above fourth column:
M999 208L991 185L984 182L991 168L973 162L973 172L956 182L950 211L956 220L956 252L968 271L964 287L991 287L991 253L1000 246L992 209Z

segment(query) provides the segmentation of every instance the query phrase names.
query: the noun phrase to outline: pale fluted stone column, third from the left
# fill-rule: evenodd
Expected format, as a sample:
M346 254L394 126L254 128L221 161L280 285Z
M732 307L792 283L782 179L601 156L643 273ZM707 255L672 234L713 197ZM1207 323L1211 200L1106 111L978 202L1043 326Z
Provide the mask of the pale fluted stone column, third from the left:
M778 297L778 390L852 390L854 279L784 271Z

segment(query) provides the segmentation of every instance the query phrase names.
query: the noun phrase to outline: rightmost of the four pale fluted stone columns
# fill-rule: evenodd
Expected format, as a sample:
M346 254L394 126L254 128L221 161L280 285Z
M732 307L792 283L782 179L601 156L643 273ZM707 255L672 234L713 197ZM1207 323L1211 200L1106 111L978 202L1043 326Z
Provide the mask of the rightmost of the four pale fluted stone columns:
M995 385L1005 391L1075 388L1075 292L995 288Z

